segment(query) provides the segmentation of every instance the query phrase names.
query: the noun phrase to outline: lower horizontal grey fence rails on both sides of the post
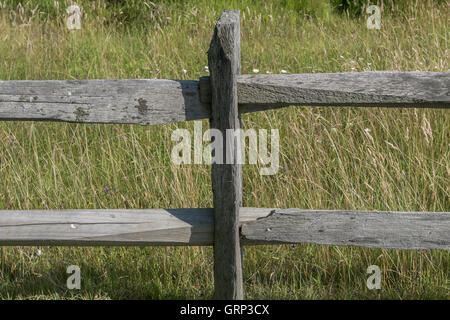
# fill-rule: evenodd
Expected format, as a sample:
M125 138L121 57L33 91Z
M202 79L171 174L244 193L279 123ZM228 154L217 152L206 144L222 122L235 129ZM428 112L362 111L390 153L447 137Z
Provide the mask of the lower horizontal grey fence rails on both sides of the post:
M213 209L0 210L0 245L212 245ZM450 250L450 212L241 208L241 243Z

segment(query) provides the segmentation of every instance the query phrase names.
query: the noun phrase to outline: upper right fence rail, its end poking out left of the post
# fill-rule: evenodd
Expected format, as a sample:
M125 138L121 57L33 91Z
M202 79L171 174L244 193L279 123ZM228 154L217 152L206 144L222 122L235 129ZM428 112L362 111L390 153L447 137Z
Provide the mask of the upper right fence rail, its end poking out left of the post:
M366 107L450 107L450 72L370 71L240 75L241 113L289 105ZM207 77L201 101L211 101Z

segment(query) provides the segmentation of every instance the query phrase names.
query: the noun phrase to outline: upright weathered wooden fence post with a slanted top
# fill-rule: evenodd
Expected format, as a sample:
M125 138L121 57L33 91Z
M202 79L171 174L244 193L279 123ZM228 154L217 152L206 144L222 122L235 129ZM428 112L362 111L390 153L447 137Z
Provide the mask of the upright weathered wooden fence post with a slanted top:
M215 26L208 51L212 96L210 125L211 128L220 130L223 137L223 152L218 154L218 150L215 150L215 156L221 158L215 159L211 171L214 194L215 299L243 299L239 243L242 166L237 161L241 150L234 134L227 136L227 131L230 131L228 129L235 133L241 128L237 98L237 76L241 72L239 24L238 10L224 11ZM239 136L236 140L238 139ZM230 162L230 159L233 161Z

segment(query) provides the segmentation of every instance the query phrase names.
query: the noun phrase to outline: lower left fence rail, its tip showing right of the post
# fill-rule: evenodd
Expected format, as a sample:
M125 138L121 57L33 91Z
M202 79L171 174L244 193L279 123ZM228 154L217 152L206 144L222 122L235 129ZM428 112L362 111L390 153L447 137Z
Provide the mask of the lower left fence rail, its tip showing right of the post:
M240 222L271 209L242 208ZM212 245L213 209L0 210L0 245Z

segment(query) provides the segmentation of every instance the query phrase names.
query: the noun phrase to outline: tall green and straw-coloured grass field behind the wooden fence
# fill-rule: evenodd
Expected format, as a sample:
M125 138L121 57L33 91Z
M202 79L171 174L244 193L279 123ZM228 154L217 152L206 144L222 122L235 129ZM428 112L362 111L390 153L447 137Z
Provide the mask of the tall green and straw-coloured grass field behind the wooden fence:
M198 79L223 9L241 9L242 73L449 71L450 5L386 5L368 15L300 1L0 1L0 79ZM120 1L118 1L120 2ZM298 3L300 3L298 2ZM385 1L389 4L389 1ZM317 2L316 2L317 3ZM134 10L133 5L142 7ZM186 70L184 72L183 70ZM207 122L203 123L204 127ZM289 107L243 116L280 130L280 170L243 168L243 205L450 211L445 110ZM210 168L171 163L175 128L0 123L0 209L211 207ZM282 186L282 187L280 187ZM81 268L81 289L66 268ZM382 271L380 290L366 269ZM205 299L212 248L2 247L2 299ZM450 254L316 245L246 247L247 299L448 299Z

